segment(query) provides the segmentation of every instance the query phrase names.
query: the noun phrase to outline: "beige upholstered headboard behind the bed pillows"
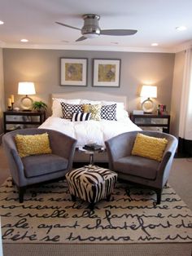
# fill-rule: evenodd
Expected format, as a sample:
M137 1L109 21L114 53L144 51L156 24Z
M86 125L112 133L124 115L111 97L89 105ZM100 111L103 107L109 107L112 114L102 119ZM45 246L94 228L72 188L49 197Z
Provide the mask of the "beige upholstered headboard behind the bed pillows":
M84 91L73 91L65 93L53 93L51 98L59 99L89 99L89 100L107 100L107 101L116 101L123 102L124 109L127 110L127 97L123 95L111 95L103 92L84 90Z

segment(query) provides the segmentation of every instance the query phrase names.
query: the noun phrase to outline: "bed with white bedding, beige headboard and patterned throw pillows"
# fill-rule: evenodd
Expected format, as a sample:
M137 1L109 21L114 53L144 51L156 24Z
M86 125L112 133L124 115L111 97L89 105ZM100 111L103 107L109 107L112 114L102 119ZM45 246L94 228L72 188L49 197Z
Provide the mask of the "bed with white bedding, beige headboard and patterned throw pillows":
M77 148L86 143L104 147L111 137L141 130L129 119L125 96L86 90L52 94L51 99L52 115L39 128L59 130L72 136L77 139ZM87 157L76 152L74 161L86 161ZM106 154L95 157L96 161L107 161Z

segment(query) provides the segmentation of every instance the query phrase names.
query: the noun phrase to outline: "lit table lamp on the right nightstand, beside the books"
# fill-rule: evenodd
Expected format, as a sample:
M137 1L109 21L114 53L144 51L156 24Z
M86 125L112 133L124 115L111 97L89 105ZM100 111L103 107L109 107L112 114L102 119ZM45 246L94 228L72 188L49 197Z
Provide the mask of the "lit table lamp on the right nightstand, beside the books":
M142 86L140 96L145 99L142 102L142 110L144 113L153 113L155 110L155 103L150 98L157 98L157 86Z

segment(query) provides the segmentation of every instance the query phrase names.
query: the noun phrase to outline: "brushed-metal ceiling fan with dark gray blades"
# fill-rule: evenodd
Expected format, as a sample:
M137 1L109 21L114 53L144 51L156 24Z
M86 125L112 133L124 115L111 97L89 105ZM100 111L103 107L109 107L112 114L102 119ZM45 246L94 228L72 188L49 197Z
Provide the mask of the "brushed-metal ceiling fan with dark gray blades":
M85 15L82 15L82 18L84 20L84 25L82 29L73 27L68 24L63 24L57 21L55 23L71 29L81 30L82 36L81 38L76 39L76 42L83 41L87 38L96 38L99 35L130 36L130 35L133 35L134 33L137 33L137 30L134 30L134 29L100 29L98 26L98 20L100 19L100 16L97 14L85 14Z

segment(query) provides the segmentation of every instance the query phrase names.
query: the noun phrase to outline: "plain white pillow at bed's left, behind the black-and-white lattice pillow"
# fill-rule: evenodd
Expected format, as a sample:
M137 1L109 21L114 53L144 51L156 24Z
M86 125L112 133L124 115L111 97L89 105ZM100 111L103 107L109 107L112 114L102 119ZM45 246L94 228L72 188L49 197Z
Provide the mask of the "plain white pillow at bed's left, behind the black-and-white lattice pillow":
M58 98L52 98L53 104L52 104L52 117L62 117L62 108L61 108L61 102L67 103L67 104L80 104L81 99L58 99Z

